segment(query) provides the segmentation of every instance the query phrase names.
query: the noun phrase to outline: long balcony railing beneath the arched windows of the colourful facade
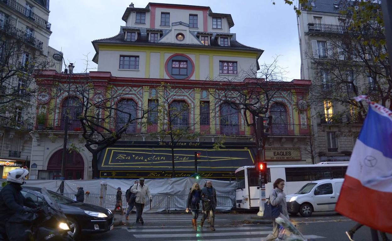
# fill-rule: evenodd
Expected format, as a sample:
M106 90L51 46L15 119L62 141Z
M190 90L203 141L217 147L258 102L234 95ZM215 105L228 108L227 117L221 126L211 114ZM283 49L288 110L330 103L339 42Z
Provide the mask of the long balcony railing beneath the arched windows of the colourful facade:
M115 119L111 121L108 129L111 131L118 131L127 122ZM65 120L54 120L46 119L44 123L36 123L36 130L55 130L64 131ZM103 126L108 124L102 124ZM186 129L189 132L200 132L201 135L226 135L226 136L252 136L254 134L253 127L247 125L236 125L236 124L173 124L173 129ZM81 123L78 119L70 119L68 122L69 131L80 131ZM105 130L97 129L100 132ZM148 123L147 125L140 124L137 122L129 123L125 132L127 133L153 133L160 130L168 130L167 125L158 123ZM298 124L274 124L271 127L270 135L284 135L284 136L295 136L295 135L311 135L313 134L312 125L298 125Z

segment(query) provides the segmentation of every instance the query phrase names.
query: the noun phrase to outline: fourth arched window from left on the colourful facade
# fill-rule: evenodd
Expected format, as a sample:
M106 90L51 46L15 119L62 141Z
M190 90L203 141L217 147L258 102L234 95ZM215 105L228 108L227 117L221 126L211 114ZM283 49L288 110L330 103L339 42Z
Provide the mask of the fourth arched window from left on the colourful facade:
M238 135L238 123L240 120L240 112L232 108L228 104L220 106L220 127L221 134Z

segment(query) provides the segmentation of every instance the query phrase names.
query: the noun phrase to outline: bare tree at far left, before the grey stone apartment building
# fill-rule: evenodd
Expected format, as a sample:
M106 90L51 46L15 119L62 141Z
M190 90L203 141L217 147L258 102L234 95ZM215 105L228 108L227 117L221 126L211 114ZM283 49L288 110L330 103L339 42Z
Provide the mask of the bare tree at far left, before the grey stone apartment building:
M29 110L35 106L38 92L33 73L36 75L53 67L42 52L42 45L38 39L13 27L11 20L0 20L0 115L3 125L23 128L22 115L24 119L30 117Z

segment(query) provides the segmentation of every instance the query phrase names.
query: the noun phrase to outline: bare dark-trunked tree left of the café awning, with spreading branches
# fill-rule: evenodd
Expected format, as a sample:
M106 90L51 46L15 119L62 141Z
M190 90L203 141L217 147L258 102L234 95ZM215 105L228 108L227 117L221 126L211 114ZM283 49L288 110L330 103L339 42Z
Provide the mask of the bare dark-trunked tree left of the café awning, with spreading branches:
M110 82L94 82L83 74L63 74L62 78L61 83L54 83L58 93L67 93L67 108L61 110L60 121L68 120L68 129L82 131L84 146L93 156L93 177L98 177L98 154L141 128L138 121L148 111L132 100L140 87L113 88Z

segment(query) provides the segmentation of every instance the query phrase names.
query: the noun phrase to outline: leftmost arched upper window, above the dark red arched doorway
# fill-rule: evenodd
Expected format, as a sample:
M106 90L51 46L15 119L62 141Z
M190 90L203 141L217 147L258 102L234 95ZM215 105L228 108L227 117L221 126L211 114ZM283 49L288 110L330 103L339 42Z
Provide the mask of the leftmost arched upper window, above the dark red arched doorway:
M60 129L65 128L65 118L68 115L68 130L80 130L81 124L79 120L80 114L82 114L83 105L80 100L76 97L69 97L64 100L61 105L61 123Z

